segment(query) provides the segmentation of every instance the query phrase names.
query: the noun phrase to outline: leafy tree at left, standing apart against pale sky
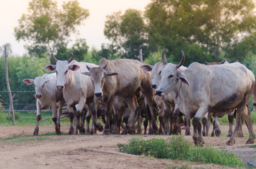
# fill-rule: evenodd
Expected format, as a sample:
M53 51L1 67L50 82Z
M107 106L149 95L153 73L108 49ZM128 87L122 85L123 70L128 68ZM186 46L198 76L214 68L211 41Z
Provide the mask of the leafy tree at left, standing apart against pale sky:
M14 35L18 41L28 41L26 45L29 54L43 56L57 53L60 44L68 44L69 37L76 33L76 26L81 25L88 18L89 12L81 8L77 0L57 7L54 0L32 0L28 5L28 14L23 14L14 28Z

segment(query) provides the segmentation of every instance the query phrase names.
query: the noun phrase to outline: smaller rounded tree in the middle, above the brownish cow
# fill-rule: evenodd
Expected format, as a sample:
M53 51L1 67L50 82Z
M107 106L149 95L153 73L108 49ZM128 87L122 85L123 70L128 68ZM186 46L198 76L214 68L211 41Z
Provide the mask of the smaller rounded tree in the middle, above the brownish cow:
M107 15L104 35L122 58L137 59L140 49L144 51L144 56L148 55L146 25L140 11L128 9L123 15L121 12Z

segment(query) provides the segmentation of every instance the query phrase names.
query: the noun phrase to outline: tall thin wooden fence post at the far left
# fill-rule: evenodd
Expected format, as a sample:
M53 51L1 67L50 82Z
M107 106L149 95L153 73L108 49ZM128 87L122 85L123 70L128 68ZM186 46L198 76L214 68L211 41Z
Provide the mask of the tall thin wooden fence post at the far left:
M11 122L14 125L14 123L15 123L15 115L14 115L14 110L13 110L13 97L11 95L10 80L9 80L9 75L8 75L7 46L4 46L4 61L5 61L5 68L4 68L4 70L6 70L6 85L7 85L8 95L9 95L9 99L10 99L10 106L9 106L9 108L11 109L11 114L12 114ZM9 111L10 111L10 109L9 109Z

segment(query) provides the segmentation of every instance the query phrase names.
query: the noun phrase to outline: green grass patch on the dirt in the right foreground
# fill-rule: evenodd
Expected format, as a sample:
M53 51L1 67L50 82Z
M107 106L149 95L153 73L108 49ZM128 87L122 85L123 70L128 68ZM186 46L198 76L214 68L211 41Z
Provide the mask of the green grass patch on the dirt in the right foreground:
M164 139L133 138L128 144L117 144L121 152L152 158L168 158L192 162L214 163L226 166L243 167L244 163L235 154L214 147L194 146L182 136Z

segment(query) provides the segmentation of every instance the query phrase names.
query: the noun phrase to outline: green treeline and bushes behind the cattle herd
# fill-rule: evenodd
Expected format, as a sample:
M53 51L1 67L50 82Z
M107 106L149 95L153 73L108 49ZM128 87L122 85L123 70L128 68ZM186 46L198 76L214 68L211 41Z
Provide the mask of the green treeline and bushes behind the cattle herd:
M53 63L51 53L66 60L73 52L76 61L98 64L101 58L139 59L142 49L144 62L153 65L161 61L163 49L168 49L165 56L169 62L178 63L182 50L185 66L195 61L239 61L256 73L256 16L252 0L152 0L144 12L117 11L106 16L104 35L110 44L102 44L100 50L89 50L86 39L70 39L90 14L78 1L64 2L60 9L57 1L32 0L28 9L14 29L18 41L30 42L24 46L28 53L13 56L11 44L7 44L13 91L33 90L22 80L46 73L44 66ZM71 40L75 43L68 47ZM3 49L1 46L0 91L6 90ZM8 96L1 95L8 102ZM22 102L34 103L33 94L24 96Z

